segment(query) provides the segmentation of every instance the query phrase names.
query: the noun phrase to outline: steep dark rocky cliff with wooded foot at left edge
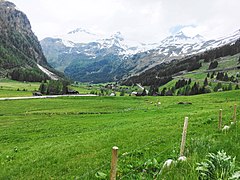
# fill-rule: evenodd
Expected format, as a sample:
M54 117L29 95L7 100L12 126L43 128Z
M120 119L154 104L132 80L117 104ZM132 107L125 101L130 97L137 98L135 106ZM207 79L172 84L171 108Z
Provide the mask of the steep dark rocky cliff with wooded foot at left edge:
M15 4L0 1L0 76L22 81L49 78L50 68L27 16ZM56 77L56 76L55 76Z

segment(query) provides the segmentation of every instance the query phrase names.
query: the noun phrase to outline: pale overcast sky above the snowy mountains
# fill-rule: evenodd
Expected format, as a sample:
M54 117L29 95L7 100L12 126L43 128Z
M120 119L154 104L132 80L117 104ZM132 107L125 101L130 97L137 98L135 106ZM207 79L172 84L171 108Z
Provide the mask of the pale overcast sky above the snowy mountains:
M240 0L10 0L41 40L81 27L159 42L182 29L216 38L240 29Z

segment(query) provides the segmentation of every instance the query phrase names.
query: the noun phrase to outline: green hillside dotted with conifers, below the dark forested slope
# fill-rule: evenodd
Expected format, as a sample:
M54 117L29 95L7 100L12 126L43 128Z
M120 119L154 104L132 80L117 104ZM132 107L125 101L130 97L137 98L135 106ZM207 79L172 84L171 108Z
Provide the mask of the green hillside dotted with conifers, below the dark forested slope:
M194 71L184 71L181 74L173 76L173 80L160 87L160 92L171 90L173 95L193 95L191 90L195 83L203 92L195 94L210 93L216 91L227 91L239 89L239 64L240 54L233 56L220 57L212 62L218 65L209 69L212 62L201 61L201 67ZM189 80L191 83L189 83ZM188 82L188 83L185 83Z

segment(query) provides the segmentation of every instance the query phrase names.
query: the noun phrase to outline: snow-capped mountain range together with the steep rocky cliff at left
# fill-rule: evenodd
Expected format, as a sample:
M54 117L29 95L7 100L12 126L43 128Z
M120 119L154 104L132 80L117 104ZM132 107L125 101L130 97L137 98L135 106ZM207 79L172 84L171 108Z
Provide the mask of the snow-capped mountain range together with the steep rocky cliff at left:
M144 44L120 32L108 36L77 28L45 38L40 44L27 16L13 3L0 1L0 17L0 77L20 81L63 77L55 69L80 82L136 80L138 75L143 79L145 72L153 74L151 69L156 66L231 45L240 38L240 30L214 40L180 31L160 42Z

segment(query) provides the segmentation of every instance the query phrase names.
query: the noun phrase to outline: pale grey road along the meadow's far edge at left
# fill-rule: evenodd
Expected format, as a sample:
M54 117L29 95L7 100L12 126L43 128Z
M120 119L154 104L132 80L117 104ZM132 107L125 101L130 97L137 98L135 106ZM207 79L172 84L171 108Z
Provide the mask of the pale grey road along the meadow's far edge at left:
M77 94L77 95L49 95L49 96L5 97L5 98L0 98L0 101L21 100L21 99L44 99L44 98L57 98L57 97L85 97L85 96L97 96L97 95L94 95L94 94Z

